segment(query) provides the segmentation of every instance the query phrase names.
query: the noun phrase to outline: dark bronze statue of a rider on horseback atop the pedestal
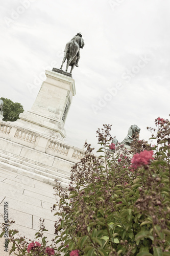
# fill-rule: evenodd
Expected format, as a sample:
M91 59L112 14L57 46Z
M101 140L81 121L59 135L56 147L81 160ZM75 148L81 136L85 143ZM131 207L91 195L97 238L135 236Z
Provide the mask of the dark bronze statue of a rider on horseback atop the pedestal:
M68 70L68 67L71 66L70 73L72 73L72 70L74 67L79 67L78 62L80 59L80 48L84 47L84 40L82 38L81 33L77 33L76 36L74 36L69 42L67 42L64 50L64 57L62 60L62 64L60 69L63 68L63 64L65 60L67 59L67 65L66 65L66 72Z

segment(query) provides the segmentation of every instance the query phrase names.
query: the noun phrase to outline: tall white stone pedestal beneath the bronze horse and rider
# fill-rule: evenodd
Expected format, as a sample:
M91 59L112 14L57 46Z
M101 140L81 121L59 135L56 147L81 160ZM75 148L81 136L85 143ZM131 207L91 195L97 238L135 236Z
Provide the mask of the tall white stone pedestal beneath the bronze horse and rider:
M68 73L69 74L69 73ZM75 96L75 80L55 71L45 71L37 98L30 111L19 115L16 124L51 138L66 137L64 123L72 96Z

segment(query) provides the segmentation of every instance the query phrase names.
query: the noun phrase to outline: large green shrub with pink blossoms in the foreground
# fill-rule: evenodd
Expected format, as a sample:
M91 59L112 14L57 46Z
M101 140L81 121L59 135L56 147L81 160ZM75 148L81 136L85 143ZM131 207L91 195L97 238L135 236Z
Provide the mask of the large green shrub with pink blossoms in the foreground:
M55 244L46 247L42 228L36 234L41 247L23 242L23 254L16 255L29 256L28 249L38 256L170 255L170 123L160 117L155 123L156 129L148 127L155 145L135 139L131 151L112 146L110 125L98 129L102 155L95 157L86 143L68 191L56 181Z

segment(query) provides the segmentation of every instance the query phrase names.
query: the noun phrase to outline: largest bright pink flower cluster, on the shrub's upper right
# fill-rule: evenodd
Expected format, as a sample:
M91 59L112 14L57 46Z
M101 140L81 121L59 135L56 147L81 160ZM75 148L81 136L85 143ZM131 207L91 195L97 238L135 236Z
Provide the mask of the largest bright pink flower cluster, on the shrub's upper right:
M150 164L150 160L154 159L153 155L153 151L147 151L144 150L143 152L140 152L139 154L136 153L133 158L131 159L131 167L132 168L137 168L140 167L142 165L147 165Z

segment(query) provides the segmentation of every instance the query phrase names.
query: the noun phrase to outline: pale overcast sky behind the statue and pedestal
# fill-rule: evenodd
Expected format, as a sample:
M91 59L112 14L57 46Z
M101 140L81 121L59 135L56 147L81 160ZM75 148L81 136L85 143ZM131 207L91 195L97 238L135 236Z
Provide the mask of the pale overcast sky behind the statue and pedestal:
M45 69L59 68L66 42L81 32L76 96L65 142L97 149L96 130L112 124L122 141L131 124L140 139L158 116L168 118L169 0L0 0L1 97L31 109ZM65 66L64 66L65 68Z

